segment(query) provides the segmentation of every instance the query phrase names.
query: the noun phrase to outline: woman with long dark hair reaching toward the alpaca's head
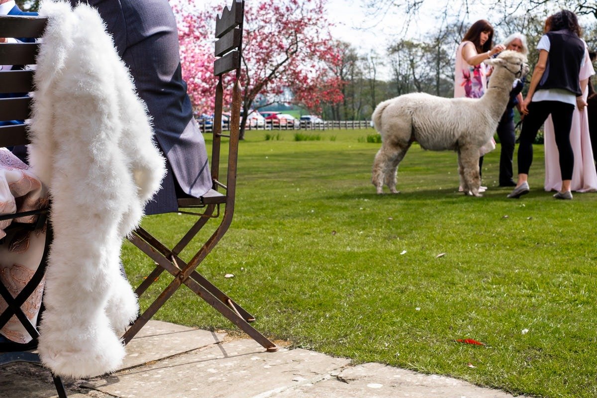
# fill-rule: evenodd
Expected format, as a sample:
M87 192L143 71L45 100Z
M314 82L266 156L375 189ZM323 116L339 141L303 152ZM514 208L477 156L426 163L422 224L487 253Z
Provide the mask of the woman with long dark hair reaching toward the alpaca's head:
M487 89L488 68L483 61L492 55L501 53L505 47L501 44L493 47L493 27L482 19L469 27L456 50L456 71L454 73L454 98L481 98ZM483 155L496 148L491 138L479 153L479 174L483 164ZM462 185L458 190L462 189ZM481 187L483 192L487 187Z

